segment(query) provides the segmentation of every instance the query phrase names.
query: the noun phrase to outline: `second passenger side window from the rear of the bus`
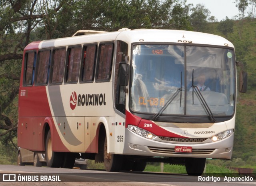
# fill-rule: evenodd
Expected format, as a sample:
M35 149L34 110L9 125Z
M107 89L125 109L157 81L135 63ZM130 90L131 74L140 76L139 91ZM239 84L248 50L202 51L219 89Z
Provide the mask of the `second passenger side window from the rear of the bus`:
M36 84L46 85L49 76L50 50L38 52Z

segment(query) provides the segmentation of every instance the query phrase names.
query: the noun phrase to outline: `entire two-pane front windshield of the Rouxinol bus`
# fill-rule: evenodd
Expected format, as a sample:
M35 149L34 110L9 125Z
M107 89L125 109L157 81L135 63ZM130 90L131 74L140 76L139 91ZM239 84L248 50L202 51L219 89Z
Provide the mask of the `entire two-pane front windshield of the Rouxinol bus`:
M206 104L214 117L234 114L232 49L156 44L132 49L132 112L154 115L166 107L161 115L209 116Z

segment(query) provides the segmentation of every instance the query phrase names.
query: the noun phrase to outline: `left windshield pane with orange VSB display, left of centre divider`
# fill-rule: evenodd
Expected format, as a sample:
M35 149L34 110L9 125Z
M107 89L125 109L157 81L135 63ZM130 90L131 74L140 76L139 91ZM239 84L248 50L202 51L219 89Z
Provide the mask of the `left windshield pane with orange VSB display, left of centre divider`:
M132 73L131 109L158 113L178 88L184 92L184 46L134 46ZM163 114L184 114L182 91Z

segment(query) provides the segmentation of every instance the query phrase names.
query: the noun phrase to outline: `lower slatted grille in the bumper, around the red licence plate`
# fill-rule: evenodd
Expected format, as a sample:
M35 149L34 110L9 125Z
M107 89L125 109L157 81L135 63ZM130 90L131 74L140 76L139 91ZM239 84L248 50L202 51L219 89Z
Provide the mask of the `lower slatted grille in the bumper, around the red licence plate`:
M152 152L160 154L210 154L215 149L192 149L192 152L175 152L174 148L148 147Z

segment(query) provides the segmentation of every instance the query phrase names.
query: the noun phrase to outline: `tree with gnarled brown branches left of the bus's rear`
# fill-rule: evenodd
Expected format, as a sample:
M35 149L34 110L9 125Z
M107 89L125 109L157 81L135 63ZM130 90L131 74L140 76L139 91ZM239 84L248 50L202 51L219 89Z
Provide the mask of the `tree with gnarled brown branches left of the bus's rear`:
M64 2L50 0L52 12L58 13ZM21 59L30 35L48 14L40 1L2 0L0 6L0 137L4 145L16 136ZM52 13L51 12L51 13ZM16 147L17 148L17 147Z

